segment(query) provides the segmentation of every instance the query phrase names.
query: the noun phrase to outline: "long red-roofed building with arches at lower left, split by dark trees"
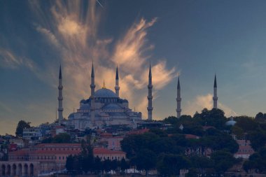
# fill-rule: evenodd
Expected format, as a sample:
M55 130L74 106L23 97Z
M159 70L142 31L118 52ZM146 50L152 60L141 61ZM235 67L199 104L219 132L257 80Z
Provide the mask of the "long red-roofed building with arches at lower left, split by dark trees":
M38 176L65 169L66 158L82 151L80 143L41 143L31 148L10 152L8 161L0 161L0 176ZM122 160L119 150L94 148L94 157L101 160Z

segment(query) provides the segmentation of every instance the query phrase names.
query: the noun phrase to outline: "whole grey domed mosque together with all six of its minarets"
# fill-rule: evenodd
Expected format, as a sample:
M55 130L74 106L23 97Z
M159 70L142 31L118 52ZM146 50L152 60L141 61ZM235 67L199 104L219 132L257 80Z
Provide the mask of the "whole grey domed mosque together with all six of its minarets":
M82 99L80 107L76 112L69 115L68 120L63 118L63 97L62 97L62 71L59 68L59 97L58 97L58 122L59 124L73 125L76 129L96 128L111 125L127 125L136 128L138 123L143 122L140 112L132 111L129 107L127 99L119 97L119 76L118 67L116 67L116 84L115 92L105 87L95 92L94 84L94 66L92 63L91 84L90 84L90 98ZM177 97L176 97L176 117L181 117L181 85L178 78L177 83ZM153 83L151 64L148 73L148 121L153 120ZM214 108L217 108L217 84L216 76L214 78Z

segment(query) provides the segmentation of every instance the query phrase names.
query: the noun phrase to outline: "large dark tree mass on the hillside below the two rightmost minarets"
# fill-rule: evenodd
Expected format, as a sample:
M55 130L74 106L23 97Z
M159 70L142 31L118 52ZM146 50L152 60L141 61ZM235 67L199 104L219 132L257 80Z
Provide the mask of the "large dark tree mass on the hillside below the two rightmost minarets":
M188 176L222 174L237 162L233 153L239 148L229 135L230 127L225 127L227 120L219 109L204 109L193 118L190 115L179 119L169 117L164 122L172 128L127 136L121 146L130 164L146 170L146 174L150 169L157 169L162 176L179 175L180 169L190 169ZM204 130L203 126L208 129ZM185 134L200 138L186 139ZM211 150L210 158L205 157L207 150Z

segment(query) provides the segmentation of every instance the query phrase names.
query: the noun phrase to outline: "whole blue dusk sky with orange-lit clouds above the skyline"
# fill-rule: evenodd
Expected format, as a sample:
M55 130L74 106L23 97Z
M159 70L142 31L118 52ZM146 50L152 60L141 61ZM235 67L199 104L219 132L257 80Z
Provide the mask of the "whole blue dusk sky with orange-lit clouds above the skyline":
M213 106L226 116L265 113L266 1L91 0L0 1L0 134L19 120L56 118L62 64L63 115L96 90L114 90L147 118L148 66L153 72L153 119Z

